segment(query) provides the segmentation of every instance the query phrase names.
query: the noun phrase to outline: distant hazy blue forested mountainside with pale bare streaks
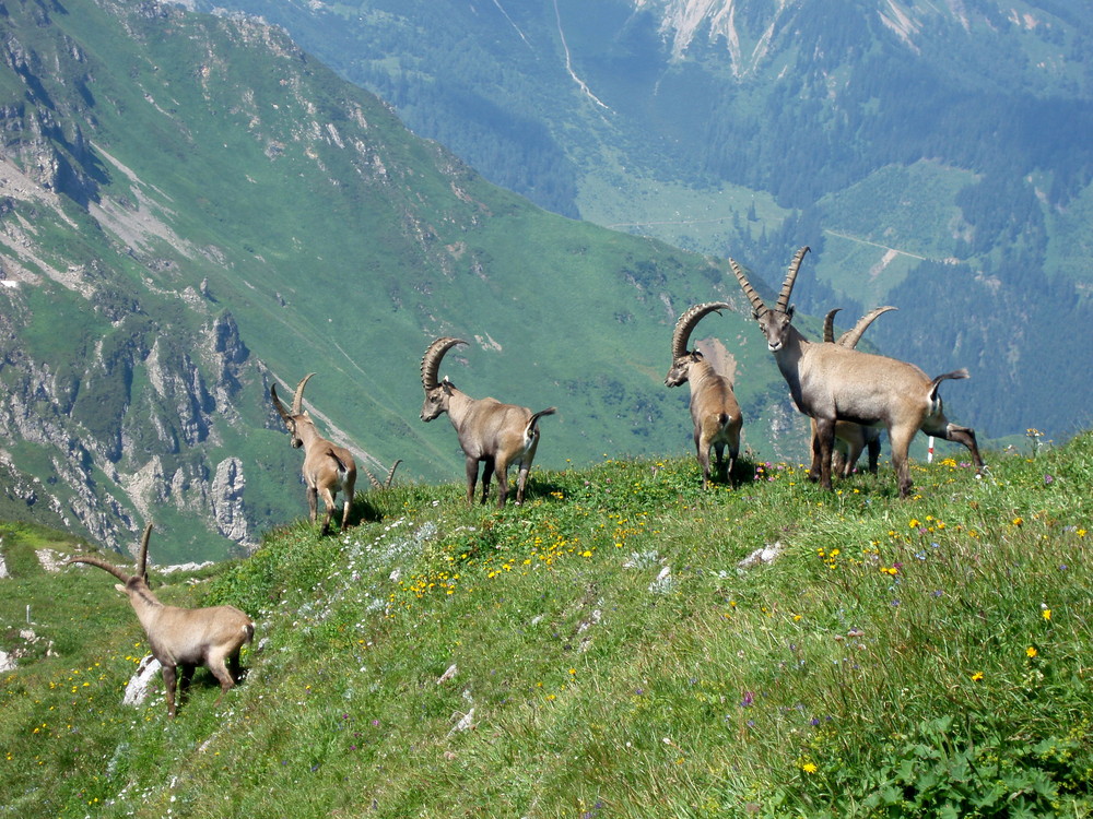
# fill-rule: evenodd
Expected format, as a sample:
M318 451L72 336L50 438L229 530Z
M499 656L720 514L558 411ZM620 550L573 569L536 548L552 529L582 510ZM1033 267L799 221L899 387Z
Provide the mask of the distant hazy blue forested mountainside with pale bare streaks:
M871 339L967 366L964 417L994 436L1089 423L1089 353L1057 334L1093 319L1093 19L1072 3L228 5L559 213L774 285L810 245L799 304L900 307Z

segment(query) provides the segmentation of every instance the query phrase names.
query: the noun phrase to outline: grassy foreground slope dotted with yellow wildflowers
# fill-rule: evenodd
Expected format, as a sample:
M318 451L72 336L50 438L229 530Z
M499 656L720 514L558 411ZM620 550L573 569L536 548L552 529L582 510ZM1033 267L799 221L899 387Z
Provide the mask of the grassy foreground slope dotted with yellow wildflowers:
M146 644L109 579L5 527L4 621L32 604L56 655L0 676L0 815L1086 816L1093 434L988 462L908 501L754 454L705 494L609 455L500 512L371 491L344 536L167 575L259 621L221 713L202 672L173 723L120 704Z

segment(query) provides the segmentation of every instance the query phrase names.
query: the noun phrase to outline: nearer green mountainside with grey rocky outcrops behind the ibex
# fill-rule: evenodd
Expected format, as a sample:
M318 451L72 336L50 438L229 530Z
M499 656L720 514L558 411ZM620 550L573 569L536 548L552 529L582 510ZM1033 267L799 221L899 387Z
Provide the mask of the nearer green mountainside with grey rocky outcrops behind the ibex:
M154 520L160 562L249 547L304 508L268 391L310 371L320 430L362 467L461 475L447 420L418 419L438 335L471 342L442 371L470 394L559 406L537 464L690 449L671 328L694 301L743 304L722 264L487 183L261 21L3 9L7 517L117 549ZM797 452L747 314L698 335L727 348L745 441Z

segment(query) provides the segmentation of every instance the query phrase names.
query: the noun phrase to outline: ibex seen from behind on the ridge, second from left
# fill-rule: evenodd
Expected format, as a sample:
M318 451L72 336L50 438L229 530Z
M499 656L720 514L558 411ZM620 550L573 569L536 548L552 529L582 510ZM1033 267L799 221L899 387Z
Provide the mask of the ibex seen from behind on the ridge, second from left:
M353 505L353 488L356 486L356 462L348 449L338 447L320 436L312 416L303 408L304 384L314 375L308 372L296 384L291 412L285 410L277 396L277 384L270 384L270 395L273 397L273 406L289 428L292 446L296 449L304 448L304 483L307 485L307 509L312 515L312 523L318 518L318 496L321 495L327 508L327 517L322 519L322 534L329 531L330 518L334 511L334 497L340 490L345 496L341 523L341 531L344 532L349 527L349 510Z

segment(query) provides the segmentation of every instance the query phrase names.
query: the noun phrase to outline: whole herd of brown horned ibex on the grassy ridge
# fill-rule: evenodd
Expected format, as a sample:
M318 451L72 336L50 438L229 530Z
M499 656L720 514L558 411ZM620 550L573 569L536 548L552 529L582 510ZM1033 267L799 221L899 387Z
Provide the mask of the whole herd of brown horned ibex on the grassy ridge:
M875 472L880 454L880 431L886 429L892 447L892 463L896 471L900 496L910 494L907 450L918 430L962 443L972 453L977 472L984 470L976 444L975 431L950 423L942 411L938 387L947 379L967 378L960 369L929 378L917 367L879 355L855 349L861 334L881 313L894 307L880 307L863 316L854 329L836 341L832 310L824 322L822 342L810 342L792 325L794 307L789 296L797 280L801 261L809 248L801 248L789 265L775 306L767 307L749 283L743 270L732 259L732 268L744 295L751 301L752 314L766 336L767 347L781 371L797 408L809 416L812 425L812 463L809 477L825 489L832 488L832 471L845 477L853 471L863 450L869 452L869 468ZM733 470L740 453L743 418L732 391L731 380L707 361L697 349L690 348L691 335L703 318L722 309L732 309L727 301L695 305L680 316L672 333L672 364L665 377L669 388L691 384L691 420L694 446L702 468L702 486L710 482L710 450L716 454L718 477L733 485ZM472 399L448 380L438 381L440 361L453 347L467 344L461 339L440 337L428 345L421 361L421 385L425 401L421 419L431 422L447 413L456 429L459 447L466 458L467 501L473 502L474 489L482 465L482 503L486 502L490 482L497 477L497 506L508 497L508 471L519 467L516 482L516 503L522 503L536 450L539 446L539 420L555 412L553 406L537 413L496 399ZM315 423L303 408L304 387L315 373L308 373L293 394L292 407L281 403L277 385L270 396L278 415L289 430L292 446L304 450L303 477L312 523L318 519L318 499L326 507L322 534L327 534L336 512L336 497L342 492L341 531L350 523L350 511L356 484L356 463L344 447L319 435ZM724 461L728 449L728 463ZM834 460L842 454L842 462ZM376 487L390 486L396 461L380 484L371 473ZM148 585L148 543L152 524L148 524L137 558L137 573L129 575L118 567L92 555L75 555L70 563L96 566L121 581L117 589L128 595L137 617L148 636L153 656L163 667L167 713L175 715L175 688L178 669L185 690L195 667L207 666L220 681L221 697L238 678L238 660L243 646L254 637L251 619L232 606L211 608L178 608L156 600ZM228 668L231 666L231 669ZM218 698L218 702L220 699Z

